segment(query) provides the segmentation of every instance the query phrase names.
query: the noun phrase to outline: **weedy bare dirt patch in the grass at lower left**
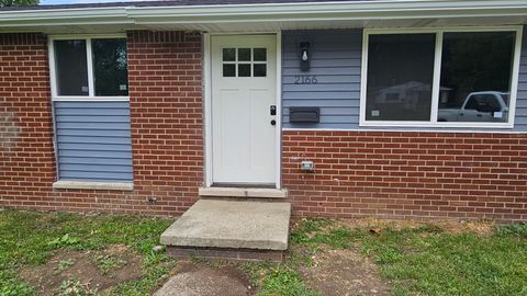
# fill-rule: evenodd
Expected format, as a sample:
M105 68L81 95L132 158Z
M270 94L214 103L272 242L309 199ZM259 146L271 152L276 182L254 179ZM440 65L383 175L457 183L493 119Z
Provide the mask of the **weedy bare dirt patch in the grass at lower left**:
M20 276L38 295L82 291L87 294L141 277L142 259L126 246L114 244L102 251L59 250L46 264L22 270Z

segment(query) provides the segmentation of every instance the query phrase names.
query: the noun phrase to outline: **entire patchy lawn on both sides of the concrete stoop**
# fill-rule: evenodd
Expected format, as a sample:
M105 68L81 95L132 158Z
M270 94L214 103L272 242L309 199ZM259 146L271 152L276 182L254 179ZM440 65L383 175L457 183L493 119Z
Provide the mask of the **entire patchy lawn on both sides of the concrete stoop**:
M51 294L150 295L177 272L176 260L153 251L170 223L138 216L1 210L0 295L37 294L33 277L42 273L60 280ZM451 231L440 224L375 224L302 219L294 225L283 264L200 260L193 264L234 265L247 274L258 295L321 295L324 289L305 272L326 264L319 261L327 259L324 253L349 251L371 262L373 271L368 273L379 277L374 283L390 286L393 295L527 295L526 225L478 234L464 228ZM68 273L81 262L94 269L104 289L88 287ZM333 263L355 265L345 260ZM127 278L121 277L123 271ZM325 272L328 278L334 277L332 272L343 273L340 269ZM327 288L332 282L324 284Z

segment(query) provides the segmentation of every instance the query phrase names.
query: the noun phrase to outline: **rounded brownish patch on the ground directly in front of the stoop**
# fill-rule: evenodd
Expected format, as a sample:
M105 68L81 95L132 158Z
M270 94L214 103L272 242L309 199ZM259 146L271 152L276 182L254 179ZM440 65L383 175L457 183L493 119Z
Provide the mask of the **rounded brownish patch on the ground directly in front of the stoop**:
M232 265L213 267L181 261L176 273L154 296L254 295L248 276Z

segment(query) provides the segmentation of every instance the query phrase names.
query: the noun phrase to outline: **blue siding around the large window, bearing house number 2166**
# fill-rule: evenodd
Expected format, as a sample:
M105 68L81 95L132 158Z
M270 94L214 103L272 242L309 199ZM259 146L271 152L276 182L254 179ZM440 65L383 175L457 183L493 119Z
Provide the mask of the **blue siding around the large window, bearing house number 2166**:
M525 29L527 31L527 27ZM311 43L311 70L300 71L299 44ZM359 128L360 30L284 31L282 34L282 116L285 128ZM317 84L295 84L294 77L315 75ZM319 124L289 123L290 106L319 106ZM372 129L373 127L368 127ZM382 129L382 128L381 128ZM397 127L397 129L434 129ZM467 128L435 128L466 130ZM492 129L485 129L492 130ZM503 130L503 129L497 129ZM515 132L527 132L527 37L523 39Z

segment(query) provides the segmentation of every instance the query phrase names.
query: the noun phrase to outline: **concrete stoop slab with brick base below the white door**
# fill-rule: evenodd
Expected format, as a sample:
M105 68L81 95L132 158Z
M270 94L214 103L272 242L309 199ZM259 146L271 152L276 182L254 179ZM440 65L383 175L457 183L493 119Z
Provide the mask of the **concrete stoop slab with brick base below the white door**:
M290 203L200 200L161 235L175 257L281 261Z

